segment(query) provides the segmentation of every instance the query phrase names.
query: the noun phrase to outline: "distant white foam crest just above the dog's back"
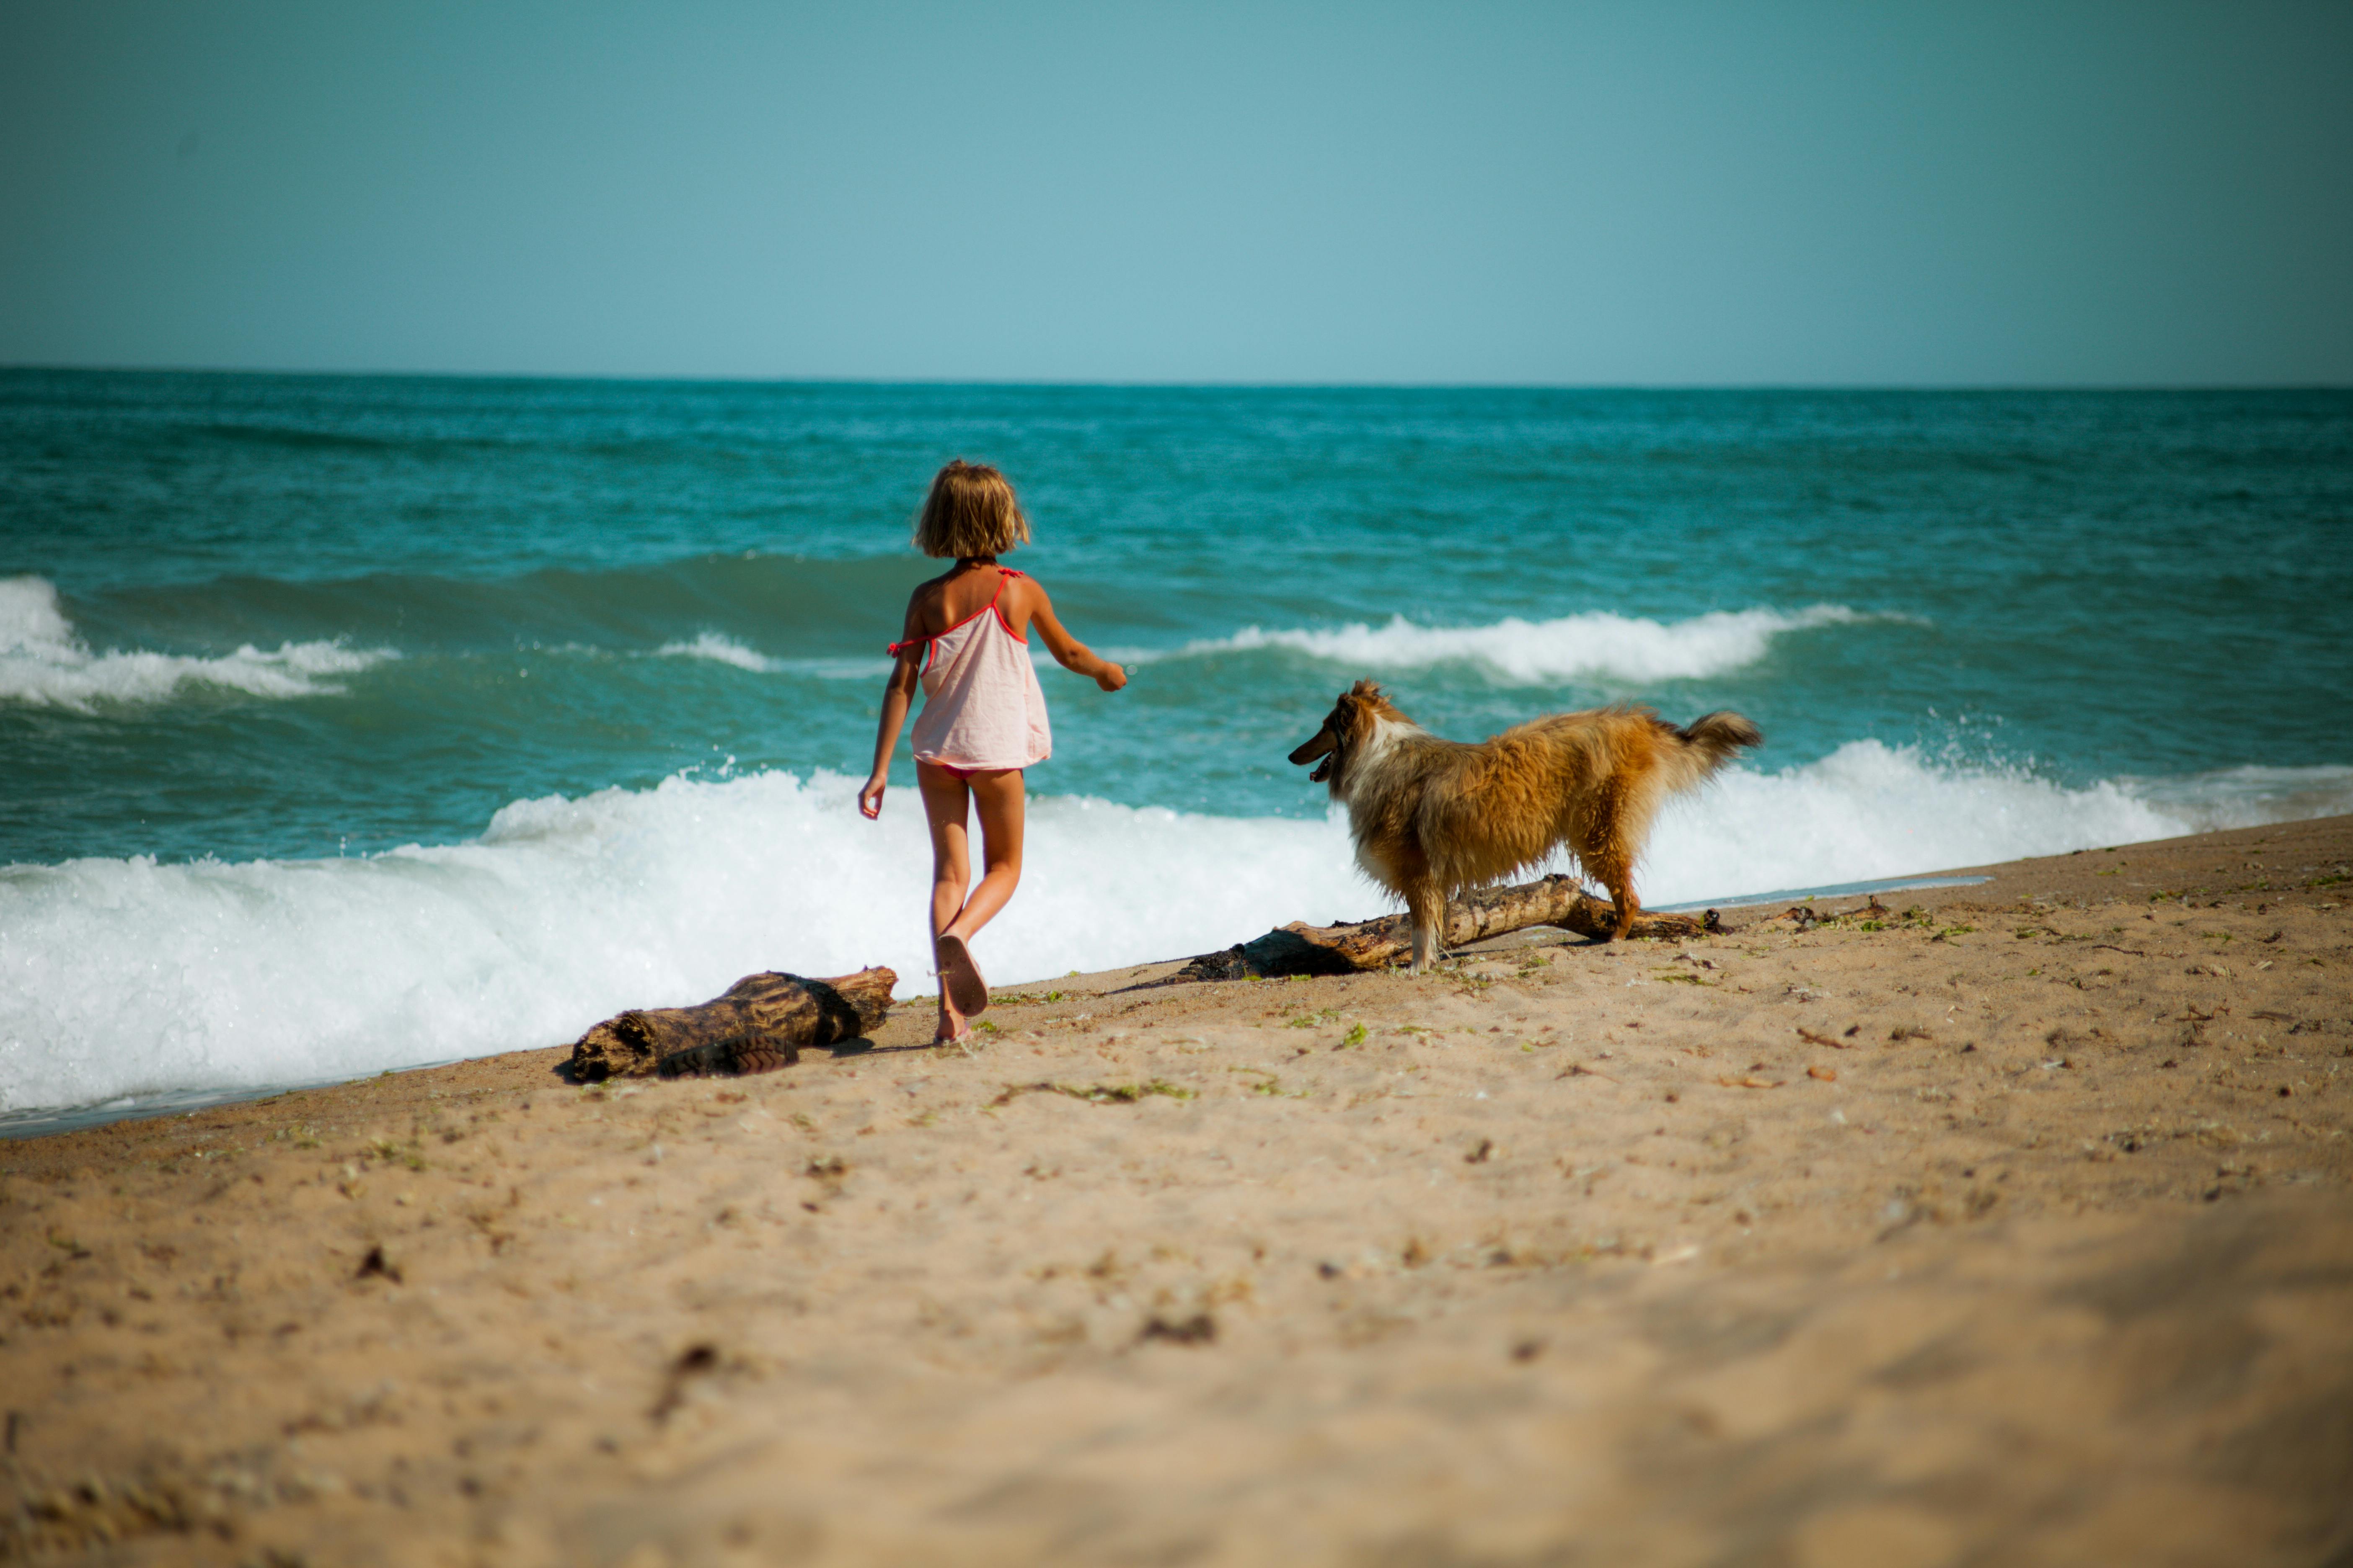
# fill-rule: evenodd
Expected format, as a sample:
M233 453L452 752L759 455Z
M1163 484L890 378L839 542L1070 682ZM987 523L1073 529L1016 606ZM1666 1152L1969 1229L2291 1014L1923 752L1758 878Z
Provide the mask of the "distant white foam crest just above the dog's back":
M1468 663L1494 679L1520 684L1577 677L1659 682L1741 670L1765 658L1772 639L1786 632L1873 618L1842 604L1814 604L1800 611L1715 609L1689 621L1588 611L1558 621L1511 616L1494 625L1414 625L1395 616L1388 625L1358 623L1329 630L1268 632L1252 625L1233 637L1193 642L1176 656L1297 649L1358 670Z

